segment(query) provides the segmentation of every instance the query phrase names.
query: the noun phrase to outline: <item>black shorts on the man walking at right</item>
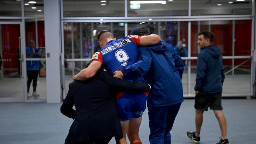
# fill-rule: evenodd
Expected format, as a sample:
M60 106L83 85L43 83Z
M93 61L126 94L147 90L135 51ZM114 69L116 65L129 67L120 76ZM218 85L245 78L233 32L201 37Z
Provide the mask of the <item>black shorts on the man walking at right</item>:
M221 92L219 93L206 93L198 92L195 97L195 109L201 111L208 111L208 107L212 110L221 111Z

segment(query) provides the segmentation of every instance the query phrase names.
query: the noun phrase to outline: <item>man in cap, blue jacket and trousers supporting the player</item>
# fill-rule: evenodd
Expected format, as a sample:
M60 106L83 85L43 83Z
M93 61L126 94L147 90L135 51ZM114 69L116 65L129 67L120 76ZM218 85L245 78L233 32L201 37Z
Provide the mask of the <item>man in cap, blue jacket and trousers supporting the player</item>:
M146 35L144 28L135 28L130 35ZM140 47L139 61L116 71L114 76L126 78L141 75L151 85L148 94L148 118L150 144L171 144L171 129L183 102L180 73L183 61L171 44L161 40L160 44Z

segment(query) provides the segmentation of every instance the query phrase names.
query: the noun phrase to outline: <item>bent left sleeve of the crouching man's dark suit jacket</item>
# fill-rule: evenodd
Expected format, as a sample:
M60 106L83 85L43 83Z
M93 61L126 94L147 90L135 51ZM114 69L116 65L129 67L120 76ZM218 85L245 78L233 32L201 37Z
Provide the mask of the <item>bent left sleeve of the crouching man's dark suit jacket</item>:
M74 83L69 84L69 92L67 93L67 96L60 107L60 111L65 116L75 119L76 111L73 109L73 105L74 105L74 102L73 102L74 96L72 92L73 84Z

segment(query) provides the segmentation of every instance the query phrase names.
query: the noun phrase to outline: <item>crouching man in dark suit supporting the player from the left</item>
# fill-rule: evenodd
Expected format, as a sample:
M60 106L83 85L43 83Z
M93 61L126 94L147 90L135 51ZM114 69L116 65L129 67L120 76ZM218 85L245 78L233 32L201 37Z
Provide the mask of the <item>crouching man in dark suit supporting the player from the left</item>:
M114 78L108 72L87 81L73 81L61 105L61 113L74 119L65 144L108 144L112 137L121 139L115 91L148 91L150 85ZM76 110L72 107L75 105Z

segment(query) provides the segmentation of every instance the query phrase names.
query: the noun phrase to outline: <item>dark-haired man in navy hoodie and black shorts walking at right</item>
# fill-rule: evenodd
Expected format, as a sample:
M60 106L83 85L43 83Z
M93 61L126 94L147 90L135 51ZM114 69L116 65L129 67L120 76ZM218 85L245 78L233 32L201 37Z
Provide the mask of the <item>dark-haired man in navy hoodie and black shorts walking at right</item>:
M229 144L226 138L226 119L222 112L221 93L224 81L224 68L221 50L212 45L213 33L202 31L198 34L198 45L202 49L197 56L197 77L195 85L196 131L187 132L187 138L200 143L200 130L203 113L208 107L214 111L221 128L221 140L217 144Z

